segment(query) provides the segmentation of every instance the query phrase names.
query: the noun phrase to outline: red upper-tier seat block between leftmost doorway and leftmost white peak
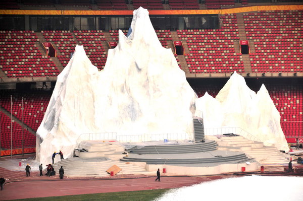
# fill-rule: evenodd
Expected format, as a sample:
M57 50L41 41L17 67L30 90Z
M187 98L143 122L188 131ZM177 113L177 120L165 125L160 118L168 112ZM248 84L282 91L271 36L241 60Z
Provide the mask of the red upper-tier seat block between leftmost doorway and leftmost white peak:
M70 60L71 53L74 52L76 42L70 31L41 31L46 41L52 41L56 44L62 55L58 55L58 59L65 67Z

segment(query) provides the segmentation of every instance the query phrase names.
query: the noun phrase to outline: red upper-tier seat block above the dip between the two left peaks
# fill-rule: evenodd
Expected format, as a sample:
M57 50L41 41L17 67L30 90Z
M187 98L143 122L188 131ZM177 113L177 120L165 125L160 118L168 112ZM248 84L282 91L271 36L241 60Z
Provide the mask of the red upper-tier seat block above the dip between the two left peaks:
M85 52L92 64L97 66L98 69L103 69L107 54L102 45L102 41L106 41L102 30L74 31L74 34L80 45L84 46Z

